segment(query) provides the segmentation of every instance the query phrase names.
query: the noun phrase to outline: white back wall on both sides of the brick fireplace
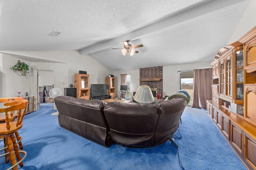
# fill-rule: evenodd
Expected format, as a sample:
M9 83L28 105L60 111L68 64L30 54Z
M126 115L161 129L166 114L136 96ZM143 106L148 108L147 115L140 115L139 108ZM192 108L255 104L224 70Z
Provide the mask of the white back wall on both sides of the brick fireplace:
M213 60L214 60L214 57L212 57L212 61ZM163 92L166 92L166 95L170 95L180 90L180 72L178 71L194 70L194 69L201 69L201 68L212 68L212 66L210 66L211 62L163 66ZM140 86L140 80L139 80L140 70L139 69L114 72L114 76L117 77L116 94L118 94L118 92L120 91L120 84L121 84L120 74L125 74L125 73L131 74L131 85L130 85L131 95L130 96L133 96L133 92L136 92L136 90Z

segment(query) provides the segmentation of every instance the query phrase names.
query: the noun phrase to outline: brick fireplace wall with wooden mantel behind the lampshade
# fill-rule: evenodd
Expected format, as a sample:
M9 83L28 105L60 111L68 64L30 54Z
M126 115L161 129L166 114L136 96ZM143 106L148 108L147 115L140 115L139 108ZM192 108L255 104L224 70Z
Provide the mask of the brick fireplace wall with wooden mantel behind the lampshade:
M140 68L140 85L148 85L163 96L163 66Z

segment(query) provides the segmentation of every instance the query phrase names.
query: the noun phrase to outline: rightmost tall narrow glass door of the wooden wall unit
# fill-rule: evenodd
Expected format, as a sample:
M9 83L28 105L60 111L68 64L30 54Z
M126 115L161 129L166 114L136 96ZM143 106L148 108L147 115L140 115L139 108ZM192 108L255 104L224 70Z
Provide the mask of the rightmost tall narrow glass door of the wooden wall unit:
M235 53L235 64L236 66L236 84L235 84L235 90L236 93L234 93L234 99L236 103L243 104L244 100L244 55L243 50L236 51Z

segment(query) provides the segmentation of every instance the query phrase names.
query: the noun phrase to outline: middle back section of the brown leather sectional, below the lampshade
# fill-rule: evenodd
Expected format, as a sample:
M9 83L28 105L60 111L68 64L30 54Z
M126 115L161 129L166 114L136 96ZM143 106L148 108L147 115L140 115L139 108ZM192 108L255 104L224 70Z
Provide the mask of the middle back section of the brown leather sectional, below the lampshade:
M122 146L153 146L158 120L153 104L111 102L104 113L114 141Z

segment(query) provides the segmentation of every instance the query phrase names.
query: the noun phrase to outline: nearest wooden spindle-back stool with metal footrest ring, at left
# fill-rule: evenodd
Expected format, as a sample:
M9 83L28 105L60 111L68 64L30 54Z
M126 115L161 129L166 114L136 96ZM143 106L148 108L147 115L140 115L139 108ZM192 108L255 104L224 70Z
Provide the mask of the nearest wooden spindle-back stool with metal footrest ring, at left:
M11 104L7 104L11 105ZM5 123L0 124L0 139L4 139L5 150L7 152L1 154L0 156L9 155L11 161L11 168L13 170L18 170L18 164L20 167L23 166L23 160L26 158L27 153L23 150L19 150L15 139L15 133L22 127L23 117L25 115L26 108L28 106L28 100L20 100L13 102L11 106L6 108L0 108L0 113L5 113L6 119ZM17 111L17 119L16 121L10 121L10 114L12 112ZM7 147L7 148L6 148ZM24 154L23 158L20 155L20 152ZM17 161L17 160L18 161ZM6 163L9 163L9 160L6 160Z

